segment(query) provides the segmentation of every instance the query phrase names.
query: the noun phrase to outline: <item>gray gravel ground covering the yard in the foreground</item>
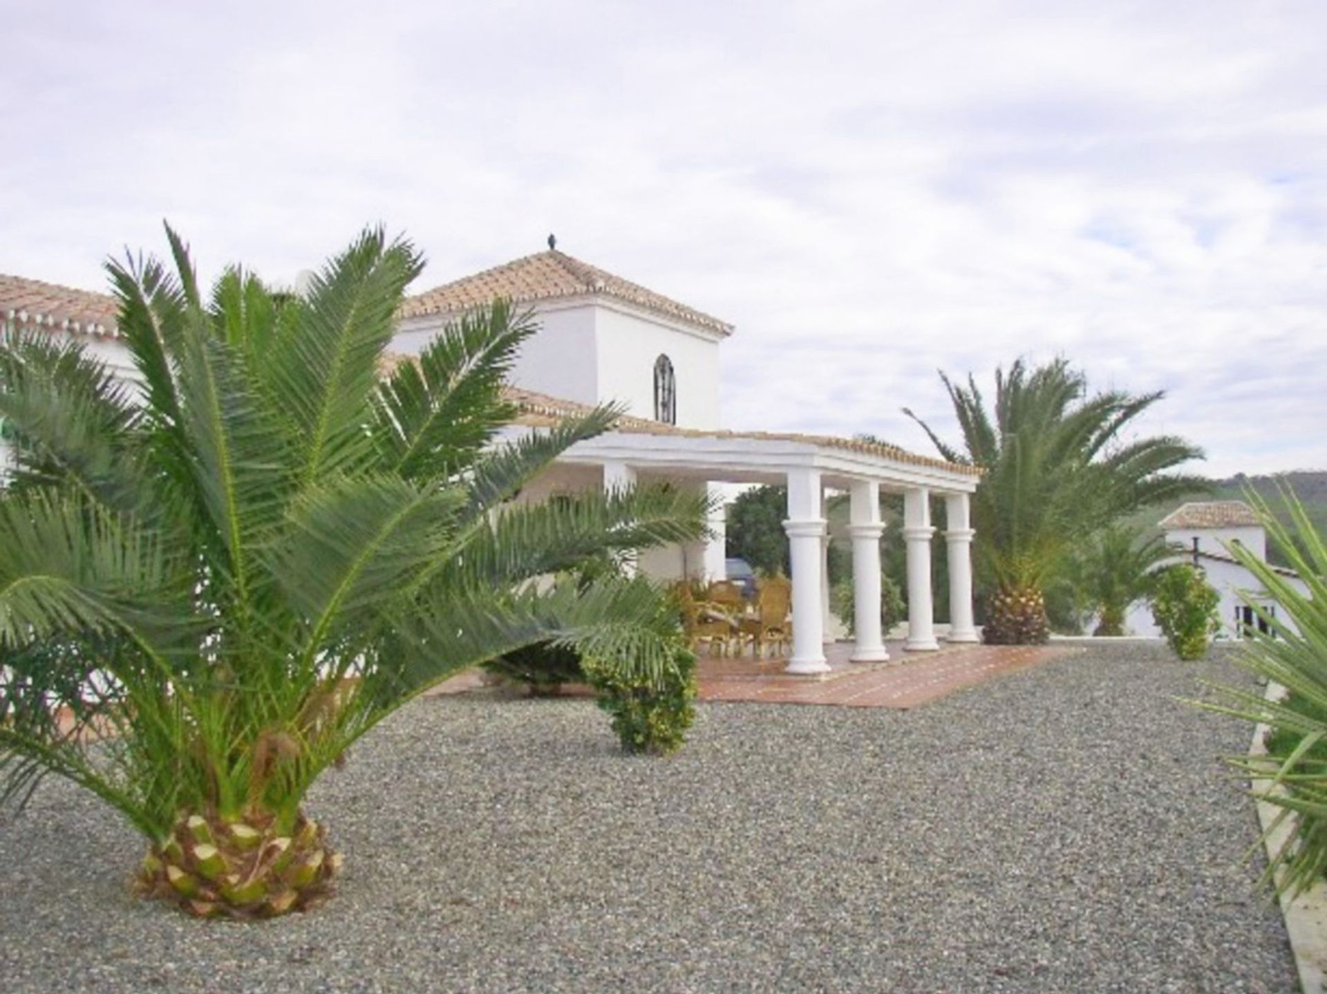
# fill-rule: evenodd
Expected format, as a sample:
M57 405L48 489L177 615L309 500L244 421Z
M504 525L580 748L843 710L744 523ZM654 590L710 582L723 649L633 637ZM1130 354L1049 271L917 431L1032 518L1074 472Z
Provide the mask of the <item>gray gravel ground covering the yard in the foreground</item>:
M0 819L4 991L1285 991L1245 725L1092 648L916 711L702 706L667 760L587 701L419 701L311 799L340 896L263 925L130 896L48 782Z

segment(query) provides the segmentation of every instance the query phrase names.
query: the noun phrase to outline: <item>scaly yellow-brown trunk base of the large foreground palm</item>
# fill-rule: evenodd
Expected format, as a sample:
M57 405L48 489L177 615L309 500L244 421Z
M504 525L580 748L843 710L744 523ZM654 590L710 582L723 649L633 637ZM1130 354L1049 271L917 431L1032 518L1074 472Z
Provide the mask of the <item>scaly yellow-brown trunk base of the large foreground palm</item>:
M328 897L340 868L322 827L303 814L289 835L277 833L271 816L226 821L195 814L153 847L139 887L200 918L273 918Z

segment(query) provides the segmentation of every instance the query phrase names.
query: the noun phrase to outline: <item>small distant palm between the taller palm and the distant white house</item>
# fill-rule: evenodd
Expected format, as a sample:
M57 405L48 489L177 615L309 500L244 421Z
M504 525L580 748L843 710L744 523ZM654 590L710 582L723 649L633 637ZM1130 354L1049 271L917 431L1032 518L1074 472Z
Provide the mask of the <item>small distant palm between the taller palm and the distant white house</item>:
M1161 535L1140 541L1133 528L1112 524L1096 535L1067 567L1079 603L1096 614L1095 636L1123 636L1129 605L1145 597L1156 568L1172 556Z

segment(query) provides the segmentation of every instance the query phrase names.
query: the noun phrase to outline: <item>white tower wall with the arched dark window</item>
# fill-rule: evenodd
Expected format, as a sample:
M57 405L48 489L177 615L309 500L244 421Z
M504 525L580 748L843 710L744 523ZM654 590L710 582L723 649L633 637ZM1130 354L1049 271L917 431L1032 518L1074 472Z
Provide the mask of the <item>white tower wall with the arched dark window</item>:
M598 394L654 417L654 362L667 356L677 382L677 423L719 427L719 340L617 307L596 309Z

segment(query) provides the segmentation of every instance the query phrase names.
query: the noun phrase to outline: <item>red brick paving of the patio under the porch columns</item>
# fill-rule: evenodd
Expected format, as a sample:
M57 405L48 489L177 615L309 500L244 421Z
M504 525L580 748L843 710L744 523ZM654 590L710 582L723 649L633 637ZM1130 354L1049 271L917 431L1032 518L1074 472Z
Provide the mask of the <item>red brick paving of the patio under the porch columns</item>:
M917 707L962 687L1005 673L1062 658L1071 646L942 645L938 652L909 653L889 646L888 662L848 661L852 646L825 646L829 673L802 677L783 673L784 660L701 657L702 701L833 705L837 707Z

